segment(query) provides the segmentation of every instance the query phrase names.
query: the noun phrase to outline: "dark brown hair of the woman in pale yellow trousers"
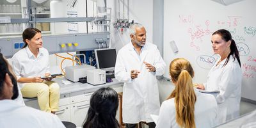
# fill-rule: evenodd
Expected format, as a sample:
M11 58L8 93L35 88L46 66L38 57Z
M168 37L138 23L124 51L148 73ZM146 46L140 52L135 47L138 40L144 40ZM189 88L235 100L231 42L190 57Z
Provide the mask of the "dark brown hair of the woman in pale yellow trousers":
M41 33L41 31L37 28L26 28L23 33L22 33L22 38L23 38L23 42L25 43L24 47L27 47L28 43L26 42L26 39L31 40L31 38L33 38L36 33Z

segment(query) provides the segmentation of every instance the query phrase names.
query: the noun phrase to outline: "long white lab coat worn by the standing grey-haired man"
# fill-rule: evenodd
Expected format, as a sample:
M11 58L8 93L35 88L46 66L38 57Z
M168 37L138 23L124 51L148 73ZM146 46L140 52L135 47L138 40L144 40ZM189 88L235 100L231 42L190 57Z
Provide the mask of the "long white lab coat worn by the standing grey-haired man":
M148 72L143 63L146 61L156 67L156 72ZM123 89L123 122L153 122L150 114L159 113L160 102L156 76L164 73L165 63L157 46L146 42L140 55L135 51L132 42L118 52L115 65L115 77L124 82ZM137 78L131 79L131 70L139 70Z

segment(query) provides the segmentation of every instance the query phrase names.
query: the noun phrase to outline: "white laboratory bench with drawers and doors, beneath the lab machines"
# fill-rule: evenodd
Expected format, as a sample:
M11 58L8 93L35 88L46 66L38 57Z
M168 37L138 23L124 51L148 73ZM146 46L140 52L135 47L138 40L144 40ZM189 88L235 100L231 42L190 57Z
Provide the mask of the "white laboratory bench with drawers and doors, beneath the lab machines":
M62 81L67 81L65 77L52 79L60 85L60 103L59 110L56 111L56 115L59 116L61 121L72 122L77 127L83 125L86 118L87 111L90 107L90 97L93 92L102 87L110 86L117 93L123 91L124 83L120 83L117 79L113 79L113 82L99 85L92 85L88 83L73 83L63 84ZM24 98L26 106L40 109L38 106L37 98L27 99ZM116 112L116 119L119 120L119 107Z

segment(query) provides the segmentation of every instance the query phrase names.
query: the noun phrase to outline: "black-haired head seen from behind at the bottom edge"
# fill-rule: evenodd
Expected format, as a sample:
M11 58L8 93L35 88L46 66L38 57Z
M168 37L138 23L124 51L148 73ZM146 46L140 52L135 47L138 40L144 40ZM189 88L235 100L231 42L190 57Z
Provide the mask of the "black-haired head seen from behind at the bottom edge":
M112 88L100 88L92 94L83 128L119 128L116 120L118 95Z

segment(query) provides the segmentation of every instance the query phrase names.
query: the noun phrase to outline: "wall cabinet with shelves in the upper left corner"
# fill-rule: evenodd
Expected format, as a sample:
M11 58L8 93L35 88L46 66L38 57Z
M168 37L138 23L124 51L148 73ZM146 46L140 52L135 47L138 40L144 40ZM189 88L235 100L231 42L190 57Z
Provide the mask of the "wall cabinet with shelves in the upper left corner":
M50 18L50 0L44 3L35 3L31 1L33 15L35 18ZM27 0L17 0L14 3L8 1L0 1L0 17L10 17L11 19L28 18ZM1 23L1 21L0 21ZM21 35L25 28L28 28L28 23L8 23L0 24L0 36ZM44 33L50 33L49 22L35 23L35 28L40 29Z

